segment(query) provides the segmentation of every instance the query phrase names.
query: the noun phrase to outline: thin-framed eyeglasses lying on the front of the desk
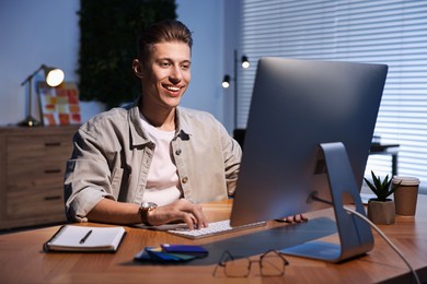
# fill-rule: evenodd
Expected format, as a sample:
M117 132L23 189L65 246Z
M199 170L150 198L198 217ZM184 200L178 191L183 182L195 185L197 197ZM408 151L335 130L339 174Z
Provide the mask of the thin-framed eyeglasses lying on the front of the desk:
M228 277L247 277L251 273L252 263L258 263L261 276L282 276L289 261L277 250L268 250L259 259L251 260L249 258L238 258L232 256L228 250L212 272L214 276L219 276L219 268L223 269L223 274Z

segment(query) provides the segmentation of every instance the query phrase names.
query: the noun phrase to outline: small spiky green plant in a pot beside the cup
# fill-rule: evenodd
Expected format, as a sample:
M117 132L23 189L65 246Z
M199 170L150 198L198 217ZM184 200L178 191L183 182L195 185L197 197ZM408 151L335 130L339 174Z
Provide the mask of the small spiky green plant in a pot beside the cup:
M368 187L377 196L377 198L372 198L368 202L368 218L374 224L393 224L395 205L394 201L389 197L397 187L392 186L392 178L389 178L389 175L381 180L381 177L371 170L371 176L372 182L363 178Z

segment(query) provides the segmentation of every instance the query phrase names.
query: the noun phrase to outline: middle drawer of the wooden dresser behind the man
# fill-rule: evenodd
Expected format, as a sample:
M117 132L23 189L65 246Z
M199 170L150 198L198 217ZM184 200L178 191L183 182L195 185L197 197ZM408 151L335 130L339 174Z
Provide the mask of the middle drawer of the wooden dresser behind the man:
M10 164L7 168L8 191L33 188L62 189L66 158Z

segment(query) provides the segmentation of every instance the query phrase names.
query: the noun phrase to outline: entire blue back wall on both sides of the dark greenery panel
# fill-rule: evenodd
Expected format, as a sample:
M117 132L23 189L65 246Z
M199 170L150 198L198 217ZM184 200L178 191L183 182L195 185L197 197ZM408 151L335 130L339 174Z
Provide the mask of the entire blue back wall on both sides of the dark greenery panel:
M223 76L223 0L176 0L178 20L194 32L192 84L183 106L207 110L226 126L220 82ZM77 81L79 51L79 0L0 1L0 126L15 125L26 116L27 86L21 86L42 63L66 72ZM34 81L42 80L39 74ZM39 119L33 88L33 115ZM82 119L101 111L102 105L82 103ZM227 110L228 111L228 110Z

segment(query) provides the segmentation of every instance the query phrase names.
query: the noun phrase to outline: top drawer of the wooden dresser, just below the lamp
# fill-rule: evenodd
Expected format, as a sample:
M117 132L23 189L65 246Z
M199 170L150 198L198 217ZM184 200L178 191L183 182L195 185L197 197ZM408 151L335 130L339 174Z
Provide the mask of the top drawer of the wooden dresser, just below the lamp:
M70 135L8 137L8 164L18 162L58 161L69 158L72 151Z

